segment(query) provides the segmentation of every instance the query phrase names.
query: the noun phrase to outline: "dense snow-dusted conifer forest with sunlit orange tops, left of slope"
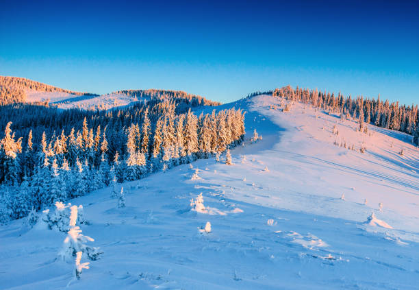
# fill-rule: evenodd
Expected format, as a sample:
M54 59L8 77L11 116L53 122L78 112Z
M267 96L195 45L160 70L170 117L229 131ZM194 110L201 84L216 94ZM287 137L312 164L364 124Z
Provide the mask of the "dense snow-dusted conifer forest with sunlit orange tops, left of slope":
M242 110L196 116L191 108L218 103L184 97L182 92L149 92L154 95L147 95L147 103L114 110L0 106L0 125L5 128L0 141L0 220L25 217L30 210L85 195L112 180L137 180L209 158L242 142Z

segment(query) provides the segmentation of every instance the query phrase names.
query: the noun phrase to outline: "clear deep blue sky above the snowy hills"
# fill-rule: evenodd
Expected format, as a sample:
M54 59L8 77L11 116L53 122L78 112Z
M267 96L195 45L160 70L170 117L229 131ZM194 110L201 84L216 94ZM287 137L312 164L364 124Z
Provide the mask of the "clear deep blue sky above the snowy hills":
M0 75L92 93L227 102L291 84L418 104L418 15L419 1L1 1Z

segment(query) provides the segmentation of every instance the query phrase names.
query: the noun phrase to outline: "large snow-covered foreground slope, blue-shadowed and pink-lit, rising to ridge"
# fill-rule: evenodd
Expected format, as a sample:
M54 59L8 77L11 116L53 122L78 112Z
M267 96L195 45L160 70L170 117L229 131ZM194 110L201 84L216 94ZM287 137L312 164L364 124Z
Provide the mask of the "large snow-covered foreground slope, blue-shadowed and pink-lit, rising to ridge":
M66 232L1 226L0 289L418 289L411 136L359 132L268 95L218 108L232 106L247 111L232 165L201 159L118 184L125 207L112 187L70 201L84 207L86 243L103 252L83 256L79 280L58 258ZM262 140L250 141L254 129Z

